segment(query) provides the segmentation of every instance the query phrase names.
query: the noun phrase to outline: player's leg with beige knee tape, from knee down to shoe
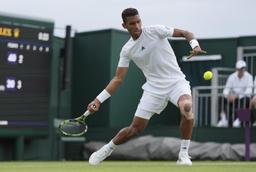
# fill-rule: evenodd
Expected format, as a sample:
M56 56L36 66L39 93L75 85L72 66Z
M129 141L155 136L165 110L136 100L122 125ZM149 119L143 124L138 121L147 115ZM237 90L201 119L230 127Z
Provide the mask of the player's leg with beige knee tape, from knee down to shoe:
M192 113L192 99L190 95L179 97L178 105L182 119L180 122L181 145L177 165L192 165L189 157L189 144L194 126L194 116Z

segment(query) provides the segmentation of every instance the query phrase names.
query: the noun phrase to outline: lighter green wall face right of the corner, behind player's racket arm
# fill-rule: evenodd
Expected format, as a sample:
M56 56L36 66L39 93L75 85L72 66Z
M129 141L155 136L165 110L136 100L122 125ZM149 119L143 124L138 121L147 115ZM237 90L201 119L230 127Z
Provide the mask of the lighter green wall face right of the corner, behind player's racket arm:
M119 54L123 45L130 39L130 34L119 30L111 30L111 79L115 76ZM145 83L144 75L134 62L130 62L125 81L111 96L110 127L127 126L133 120L134 112L142 95L141 85ZM103 86L104 87L104 86Z

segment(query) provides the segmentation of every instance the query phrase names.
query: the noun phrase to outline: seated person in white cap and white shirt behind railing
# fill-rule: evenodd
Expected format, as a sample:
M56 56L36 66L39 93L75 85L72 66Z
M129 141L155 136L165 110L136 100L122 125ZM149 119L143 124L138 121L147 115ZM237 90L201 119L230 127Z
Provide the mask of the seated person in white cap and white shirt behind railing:
M217 127L228 127L228 124L232 123L232 113L235 114L237 108L249 108L250 97L253 93L253 76L246 71L246 62L238 60L236 62L236 72L228 76L227 83L223 90L224 99L219 100L219 112L220 121L217 123ZM224 100L224 107L221 107ZM245 101L245 102L244 102ZM245 104L245 107L244 107ZM227 106L229 106L229 122L226 117ZM232 123L233 127L240 127L240 120L236 118Z

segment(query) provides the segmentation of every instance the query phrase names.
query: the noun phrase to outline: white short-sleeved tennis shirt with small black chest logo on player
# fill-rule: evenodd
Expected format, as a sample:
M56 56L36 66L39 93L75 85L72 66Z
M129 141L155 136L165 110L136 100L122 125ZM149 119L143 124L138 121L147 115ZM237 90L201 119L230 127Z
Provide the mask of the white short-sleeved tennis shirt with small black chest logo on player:
M186 81L167 40L173 34L174 28L145 26L137 40L130 38L123 46L118 67L129 67L133 60L146 77L142 89L158 94L170 92L177 81Z

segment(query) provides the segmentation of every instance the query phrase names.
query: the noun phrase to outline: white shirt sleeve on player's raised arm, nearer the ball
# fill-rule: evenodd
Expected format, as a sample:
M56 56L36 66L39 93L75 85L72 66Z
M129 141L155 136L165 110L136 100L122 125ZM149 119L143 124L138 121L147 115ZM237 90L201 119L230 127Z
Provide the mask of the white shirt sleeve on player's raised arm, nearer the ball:
M174 28L164 25L148 26L147 29L152 34L157 34L161 38L172 37L174 35Z

